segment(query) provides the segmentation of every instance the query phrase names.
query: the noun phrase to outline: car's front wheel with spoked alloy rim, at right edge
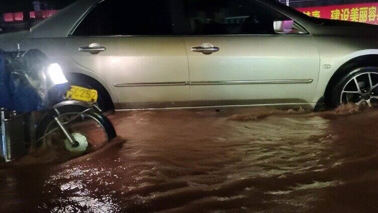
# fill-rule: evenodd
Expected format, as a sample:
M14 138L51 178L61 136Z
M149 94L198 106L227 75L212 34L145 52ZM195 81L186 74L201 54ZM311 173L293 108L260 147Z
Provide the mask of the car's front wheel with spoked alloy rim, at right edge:
M378 67L363 67L341 78L328 98L331 107L355 103L362 107L378 105Z

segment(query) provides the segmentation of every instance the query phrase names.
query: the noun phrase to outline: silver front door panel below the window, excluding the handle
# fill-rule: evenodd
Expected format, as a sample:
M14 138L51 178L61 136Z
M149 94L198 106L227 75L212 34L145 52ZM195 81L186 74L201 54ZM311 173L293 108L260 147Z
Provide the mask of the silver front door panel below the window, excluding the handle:
M210 55L191 51L204 43L220 50ZM185 37L185 44L192 101L264 104L313 100L319 53L310 35L194 36ZM222 85L214 85L218 82Z

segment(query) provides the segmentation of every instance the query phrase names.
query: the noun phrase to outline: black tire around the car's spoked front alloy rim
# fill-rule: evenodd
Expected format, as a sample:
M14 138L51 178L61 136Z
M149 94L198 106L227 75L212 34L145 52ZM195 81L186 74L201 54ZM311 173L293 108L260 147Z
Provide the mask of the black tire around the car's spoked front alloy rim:
M355 68L344 76L339 77L339 79L335 81L336 83L334 83L334 85L328 90L328 93L326 94L326 104L328 105L328 107L336 108L343 103L347 103L348 101L342 101L343 98L341 97L344 87L346 87L346 84L348 82L351 82L353 78L362 76L363 73L376 73L378 76L378 67ZM375 75L372 81L378 81Z

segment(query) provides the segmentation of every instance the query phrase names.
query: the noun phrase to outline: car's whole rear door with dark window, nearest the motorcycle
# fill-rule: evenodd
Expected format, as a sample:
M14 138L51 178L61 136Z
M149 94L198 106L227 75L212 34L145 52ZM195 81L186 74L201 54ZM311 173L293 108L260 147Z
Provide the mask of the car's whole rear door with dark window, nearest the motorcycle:
M97 4L68 38L71 57L103 77L120 106L189 104L184 39L172 36L170 0Z

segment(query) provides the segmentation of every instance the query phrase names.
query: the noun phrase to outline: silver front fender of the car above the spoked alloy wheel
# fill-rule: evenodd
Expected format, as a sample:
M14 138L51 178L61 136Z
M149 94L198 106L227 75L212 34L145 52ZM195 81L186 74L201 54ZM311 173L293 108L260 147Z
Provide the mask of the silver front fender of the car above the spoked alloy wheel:
M320 54L319 84L314 102L325 95L328 82L336 71L359 56L378 56L378 26L338 20L318 20L308 25ZM324 68L330 65L330 68Z

